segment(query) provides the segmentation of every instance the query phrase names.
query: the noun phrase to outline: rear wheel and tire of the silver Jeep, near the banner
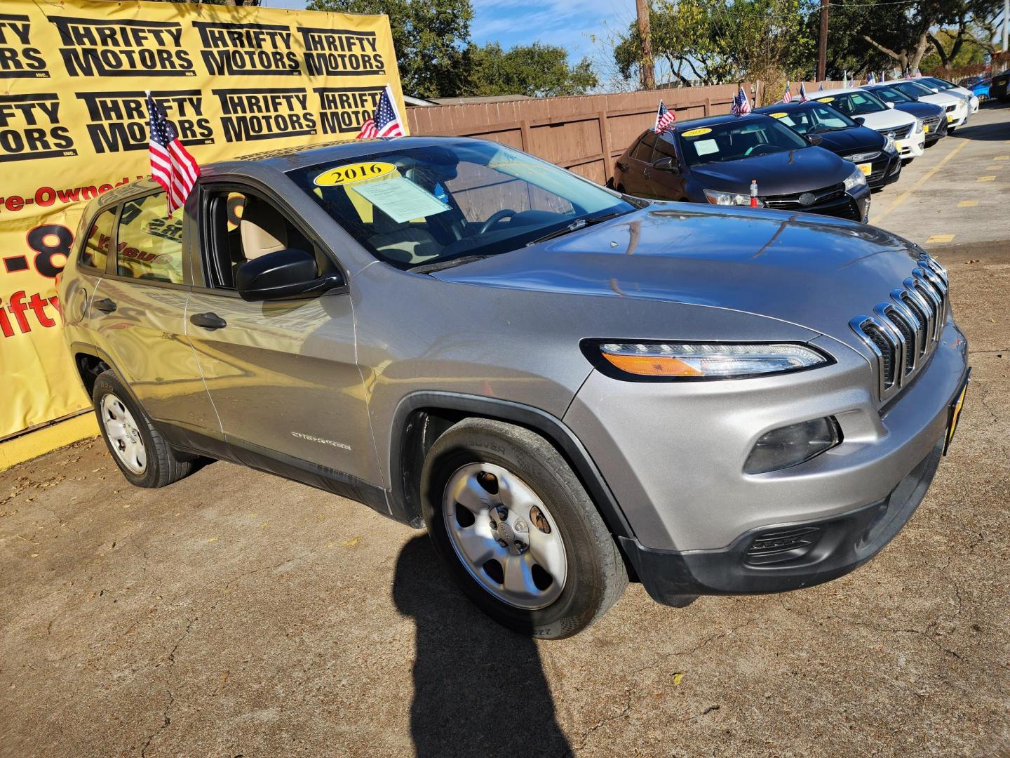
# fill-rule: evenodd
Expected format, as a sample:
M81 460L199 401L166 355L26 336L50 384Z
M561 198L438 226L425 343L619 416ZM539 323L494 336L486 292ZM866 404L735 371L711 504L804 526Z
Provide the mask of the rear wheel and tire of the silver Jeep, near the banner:
M169 447L114 372L98 375L91 397L105 445L130 484L164 487L193 471L194 459Z

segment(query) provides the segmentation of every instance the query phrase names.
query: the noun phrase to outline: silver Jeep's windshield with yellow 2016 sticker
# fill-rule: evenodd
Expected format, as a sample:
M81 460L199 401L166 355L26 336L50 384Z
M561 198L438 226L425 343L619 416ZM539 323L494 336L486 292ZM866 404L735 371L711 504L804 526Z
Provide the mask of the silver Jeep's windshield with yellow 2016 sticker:
M364 248L401 269L507 253L635 207L493 143L381 150L288 176Z

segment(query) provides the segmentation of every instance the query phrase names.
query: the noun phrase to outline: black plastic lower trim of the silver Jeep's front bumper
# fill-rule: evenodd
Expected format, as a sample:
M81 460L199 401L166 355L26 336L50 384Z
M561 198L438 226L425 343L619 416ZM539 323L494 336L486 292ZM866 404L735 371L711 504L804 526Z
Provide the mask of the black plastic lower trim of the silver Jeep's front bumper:
M645 590L667 605L683 605L691 595L784 592L821 584L862 566L901 531L922 502L942 449L940 440L883 500L839 515L762 527L721 550L652 550L630 538L620 538L621 547ZM747 562L747 551L760 533L791 527L817 528L820 539L796 561Z

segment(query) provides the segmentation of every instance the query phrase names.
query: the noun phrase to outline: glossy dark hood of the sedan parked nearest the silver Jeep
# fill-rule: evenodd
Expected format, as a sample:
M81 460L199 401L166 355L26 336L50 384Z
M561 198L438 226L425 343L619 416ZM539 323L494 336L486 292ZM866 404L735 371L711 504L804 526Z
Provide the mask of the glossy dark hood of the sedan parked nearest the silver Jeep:
M706 189L745 193L754 179L762 196L829 187L845 181L851 173L851 164L842 162L830 151L814 147L691 168L691 176Z

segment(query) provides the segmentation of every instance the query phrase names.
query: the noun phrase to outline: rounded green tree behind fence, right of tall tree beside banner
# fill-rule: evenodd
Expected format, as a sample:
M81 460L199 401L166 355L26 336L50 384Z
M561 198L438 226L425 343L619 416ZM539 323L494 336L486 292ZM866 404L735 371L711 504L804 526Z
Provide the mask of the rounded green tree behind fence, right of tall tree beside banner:
M508 52L498 42L489 42L473 49L471 61L468 89L474 95L583 95L598 83L588 58L570 66L568 51L540 42Z

